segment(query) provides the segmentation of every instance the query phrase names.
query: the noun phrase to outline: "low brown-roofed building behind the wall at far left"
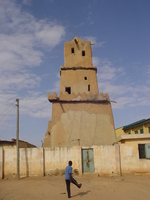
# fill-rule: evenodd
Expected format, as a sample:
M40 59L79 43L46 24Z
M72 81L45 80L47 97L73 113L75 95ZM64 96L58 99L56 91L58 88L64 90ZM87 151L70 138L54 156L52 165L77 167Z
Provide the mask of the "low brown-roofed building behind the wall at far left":
M11 141L8 140L0 140L0 147L3 148L14 148L16 147L16 139L12 138ZM30 144L28 142L19 140L19 148L36 148L35 145Z

